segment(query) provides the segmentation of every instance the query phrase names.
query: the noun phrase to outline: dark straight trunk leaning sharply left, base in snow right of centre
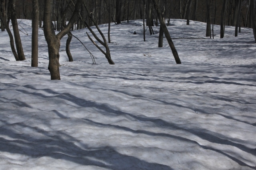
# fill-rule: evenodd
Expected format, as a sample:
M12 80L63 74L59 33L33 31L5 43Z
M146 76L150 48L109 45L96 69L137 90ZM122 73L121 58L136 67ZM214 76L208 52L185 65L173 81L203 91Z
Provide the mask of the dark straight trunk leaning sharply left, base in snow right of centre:
M170 36L170 33L165 25L165 22L163 20L163 17L162 17L162 12L161 12L161 9L159 8L158 4L156 3L156 0L152 0L153 3L154 3L154 6L155 6L155 9L156 9L156 12L157 12L157 16L158 16L158 19L159 19L159 22L163 28L163 31L164 31L164 35L170 45L170 48L172 49L172 54L174 55L174 59L176 61L176 64L181 64L181 61L180 61L180 58L179 58L179 55L178 55L178 52L172 42L172 38Z

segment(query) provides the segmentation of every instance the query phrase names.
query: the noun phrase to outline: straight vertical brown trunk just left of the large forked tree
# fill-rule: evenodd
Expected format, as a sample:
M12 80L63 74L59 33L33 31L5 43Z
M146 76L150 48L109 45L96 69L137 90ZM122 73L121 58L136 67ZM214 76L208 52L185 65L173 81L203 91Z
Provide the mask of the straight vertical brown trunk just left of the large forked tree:
M31 66L38 66L38 21L39 21L39 6L38 0L33 0L33 18L32 18L32 53Z

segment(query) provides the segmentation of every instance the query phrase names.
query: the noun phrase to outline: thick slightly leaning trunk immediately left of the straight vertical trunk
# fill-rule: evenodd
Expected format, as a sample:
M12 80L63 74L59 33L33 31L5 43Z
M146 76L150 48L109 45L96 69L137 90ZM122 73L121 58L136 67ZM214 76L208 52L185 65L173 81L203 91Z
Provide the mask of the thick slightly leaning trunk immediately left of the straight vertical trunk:
M16 10L16 0L10 0L10 18L12 21L14 40L15 40L19 60L22 61L22 60L25 60L26 58L25 58L23 48L22 48L20 32L19 32L19 28L18 28L18 22L17 22L15 10Z

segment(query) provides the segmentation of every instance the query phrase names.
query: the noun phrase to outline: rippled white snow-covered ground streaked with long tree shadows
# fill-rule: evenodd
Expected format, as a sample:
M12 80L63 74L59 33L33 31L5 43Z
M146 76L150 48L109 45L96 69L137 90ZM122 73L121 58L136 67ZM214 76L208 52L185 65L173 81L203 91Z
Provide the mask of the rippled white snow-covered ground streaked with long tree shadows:
M75 38L68 62L61 41L62 80L50 80L43 31L39 67L30 67L31 21L19 20L26 61L15 61L0 32L0 170L256 169L256 45L252 30L171 20L170 47L158 29L143 41L141 20L111 26L116 63L86 36L96 65ZM100 25L107 34L108 26ZM95 28L94 28L95 30ZM134 35L136 31L136 35Z

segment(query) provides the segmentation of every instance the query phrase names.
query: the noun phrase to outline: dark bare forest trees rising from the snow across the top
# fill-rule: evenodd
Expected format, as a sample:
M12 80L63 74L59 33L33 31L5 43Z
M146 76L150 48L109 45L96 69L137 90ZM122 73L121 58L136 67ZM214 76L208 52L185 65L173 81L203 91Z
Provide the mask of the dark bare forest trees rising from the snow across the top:
M0 2L1 30L8 32L12 53L17 61L25 59L17 18L32 19L31 66L38 65L38 27L44 29L48 43L48 69L52 80L60 80L58 68L60 39L68 34L66 53L69 61L73 61L69 50L73 36L70 31L84 27L87 27L98 43L106 48L106 51L102 50L87 33L88 38L105 55L110 64L114 64L108 49L108 43L111 42L110 22L120 24L123 21L143 19L144 41L146 41L145 26L148 27L150 34L154 34L152 27L160 26L158 47L162 47L163 35L165 35L177 64L181 62L166 27L169 26L172 18L186 19L187 25L190 24L190 20L206 22L206 37L210 38L214 37L214 24L221 25L221 38L224 37L225 25L236 27L235 36L238 35L241 26L251 27L256 40L255 0L0 0ZM10 22L14 37L9 29ZM109 24L108 43L98 27L103 23ZM93 25L96 26L103 40L90 29ZM57 35L55 31L58 32Z

